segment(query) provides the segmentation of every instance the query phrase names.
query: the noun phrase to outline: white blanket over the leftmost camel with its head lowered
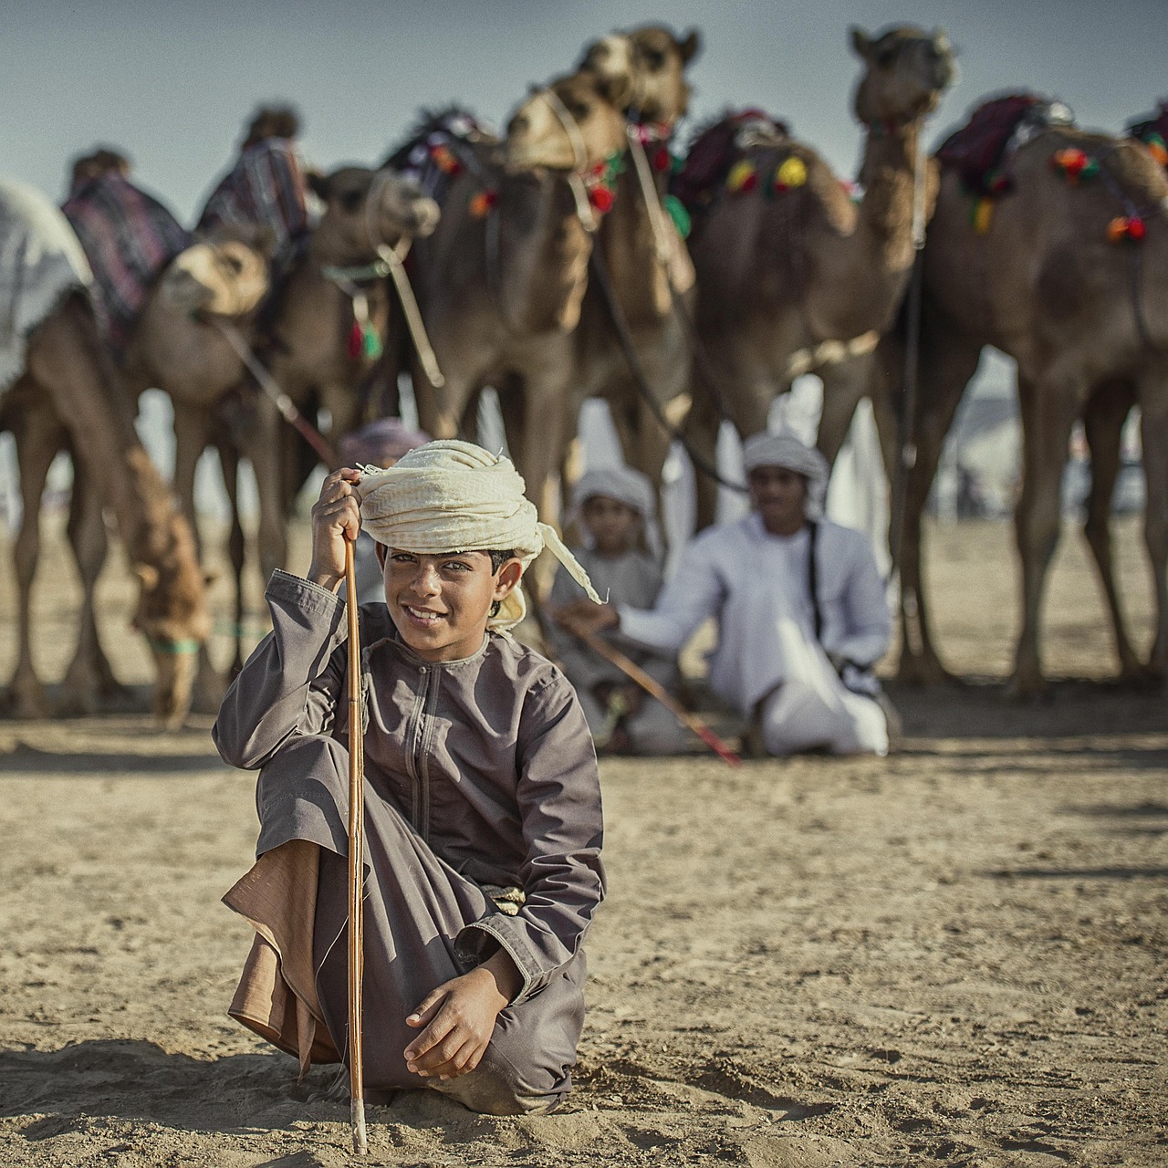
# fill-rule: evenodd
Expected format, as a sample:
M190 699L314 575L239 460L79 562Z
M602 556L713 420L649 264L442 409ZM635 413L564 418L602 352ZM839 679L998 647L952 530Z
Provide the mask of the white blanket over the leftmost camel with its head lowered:
M0 180L0 394L23 373L29 333L91 280L61 211L39 190Z

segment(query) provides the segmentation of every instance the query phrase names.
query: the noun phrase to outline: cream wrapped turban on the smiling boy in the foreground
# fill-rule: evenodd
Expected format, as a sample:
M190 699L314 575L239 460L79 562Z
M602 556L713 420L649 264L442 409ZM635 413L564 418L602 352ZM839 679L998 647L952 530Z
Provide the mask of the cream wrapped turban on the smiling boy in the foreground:
M602 603L555 528L540 522L510 459L473 443L442 440L411 450L388 470L367 466L362 472L354 486L361 523L378 543L419 556L514 551L523 571L547 545L589 599ZM506 632L526 613L516 585L487 624Z

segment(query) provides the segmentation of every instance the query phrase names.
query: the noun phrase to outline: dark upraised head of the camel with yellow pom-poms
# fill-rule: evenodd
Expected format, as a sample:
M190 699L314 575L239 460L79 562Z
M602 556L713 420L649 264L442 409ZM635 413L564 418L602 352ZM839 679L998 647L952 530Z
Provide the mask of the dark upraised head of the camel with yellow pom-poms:
M957 77L953 47L940 29L890 28L871 37L853 27L851 47L867 65L853 107L869 126L923 118Z

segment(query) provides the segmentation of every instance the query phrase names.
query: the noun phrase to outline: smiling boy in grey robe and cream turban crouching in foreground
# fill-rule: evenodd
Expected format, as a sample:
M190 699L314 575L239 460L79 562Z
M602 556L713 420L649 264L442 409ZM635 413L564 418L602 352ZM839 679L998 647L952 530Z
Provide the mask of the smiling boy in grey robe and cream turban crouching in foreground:
M267 585L273 631L214 729L225 762L260 769L258 860L224 897L258 934L230 1013L301 1071L347 1051L336 590L362 527L385 598L360 612L367 1097L429 1086L492 1114L550 1111L571 1087L582 943L604 896L600 790L571 686L508 630L545 538L588 577L512 464L470 443L430 443L375 474L334 471L307 578L277 571Z

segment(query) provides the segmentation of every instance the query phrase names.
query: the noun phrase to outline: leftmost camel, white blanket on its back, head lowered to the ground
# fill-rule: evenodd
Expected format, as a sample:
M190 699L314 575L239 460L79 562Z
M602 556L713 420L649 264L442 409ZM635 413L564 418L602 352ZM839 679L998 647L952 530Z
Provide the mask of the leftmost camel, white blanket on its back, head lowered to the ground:
M15 710L23 717L47 712L33 662L30 599L41 494L50 463L68 444L75 456L70 533L96 534L104 554L100 505L113 513L139 579L134 626L147 638L155 662L154 712L174 725L190 704L193 649L210 632L190 528L138 440L98 335L82 249L61 213L39 192L0 185L0 256L5 257L0 293L15 267L25 269L8 285L18 290L15 303L0 313L20 327L19 335L0 338L0 347L12 357L9 373L15 374L14 384L0 392L0 426L16 439L23 502L15 542L20 592L20 648L11 687ZM37 301L35 314L22 319L21 303ZM92 584L84 580L77 653L62 687L63 704L74 711L91 710L98 689L112 683L93 621Z

